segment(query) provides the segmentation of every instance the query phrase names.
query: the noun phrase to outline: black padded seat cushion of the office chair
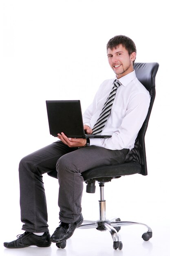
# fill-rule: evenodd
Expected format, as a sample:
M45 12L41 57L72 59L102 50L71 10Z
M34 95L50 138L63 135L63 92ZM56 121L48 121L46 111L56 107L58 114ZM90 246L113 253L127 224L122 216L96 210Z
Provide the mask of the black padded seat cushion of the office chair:
M120 177L141 172L141 165L137 163L124 163L112 166L100 166L82 173L84 181L101 177Z

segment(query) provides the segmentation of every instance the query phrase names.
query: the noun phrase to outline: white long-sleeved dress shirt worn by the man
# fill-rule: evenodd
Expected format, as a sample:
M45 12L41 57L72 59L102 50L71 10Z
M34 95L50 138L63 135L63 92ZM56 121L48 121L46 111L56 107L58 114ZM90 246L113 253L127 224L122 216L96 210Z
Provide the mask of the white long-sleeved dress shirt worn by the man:
M115 79L117 79L115 77ZM113 88L115 79L105 80L99 87L93 103L83 115L84 124L93 130L104 103ZM134 147L137 134L144 123L150 104L150 94L136 77L135 70L119 79L115 100L102 133L111 138L90 139L90 145L101 146L111 150Z

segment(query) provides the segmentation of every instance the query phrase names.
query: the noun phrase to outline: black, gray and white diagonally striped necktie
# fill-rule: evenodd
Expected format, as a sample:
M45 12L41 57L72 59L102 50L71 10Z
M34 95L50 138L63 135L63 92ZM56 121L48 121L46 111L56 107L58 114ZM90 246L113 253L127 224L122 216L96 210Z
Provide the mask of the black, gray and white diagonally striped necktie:
M109 94L109 97L107 98L106 102L104 103L104 107L102 109L101 114L99 115L99 118L97 119L96 124L93 127L93 133L92 134L100 134L106 124L106 121L108 119L108 116L110 114L113 101L115 99L115 95L117 92L117 88L121 85L121 83L118 80L115 80L113 82L113 88Z

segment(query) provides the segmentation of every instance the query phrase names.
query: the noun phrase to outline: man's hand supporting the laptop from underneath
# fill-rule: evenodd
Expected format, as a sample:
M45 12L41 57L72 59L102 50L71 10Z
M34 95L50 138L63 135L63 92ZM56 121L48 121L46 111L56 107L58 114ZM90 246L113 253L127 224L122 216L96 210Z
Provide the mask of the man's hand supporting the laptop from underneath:
M86 145L86 139L81 138L68 138L64 132L57 134L57 138L60 139L64 144L70 148L78 148Z

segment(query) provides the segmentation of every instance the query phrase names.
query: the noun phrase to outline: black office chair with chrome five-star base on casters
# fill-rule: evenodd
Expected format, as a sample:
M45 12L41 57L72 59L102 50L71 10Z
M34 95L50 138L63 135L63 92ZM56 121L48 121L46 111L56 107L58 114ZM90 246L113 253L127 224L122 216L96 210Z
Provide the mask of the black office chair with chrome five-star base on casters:
M146 164L146 150L145 150L145 133L148 127L148 121L152 106L155 99L155 76L157 74L159 64L158 63L135 63L134 69L139 81L146 87L150 93L150 107L148 115L141 127L135 146L130 153L128 153L126 162L124 164L117 164L113 166L100 166L82 173L82 177L86 182L86 192L95 193L95 182L97 181L100 187L100 200L99 200L99 220L90 221L84 220L83 224L79 227L82 229L96 228L99 231L110 231L113 238L113 248L121 250L123 244L119 241L118 231L121 226L139 224L144 225L148 231L142 235L145 241L148 241L152 237L152 229L147 225L139 222L127 222L121 221L119 218L108 220L106 219L106 200L104 200L104 184L110 182L112 179L120 178L124 175L132 175L139 173L141 175L147 175ZM52 177L56 177L56 172L48 173ZM64 248L66 241L57 243L57 247Z

